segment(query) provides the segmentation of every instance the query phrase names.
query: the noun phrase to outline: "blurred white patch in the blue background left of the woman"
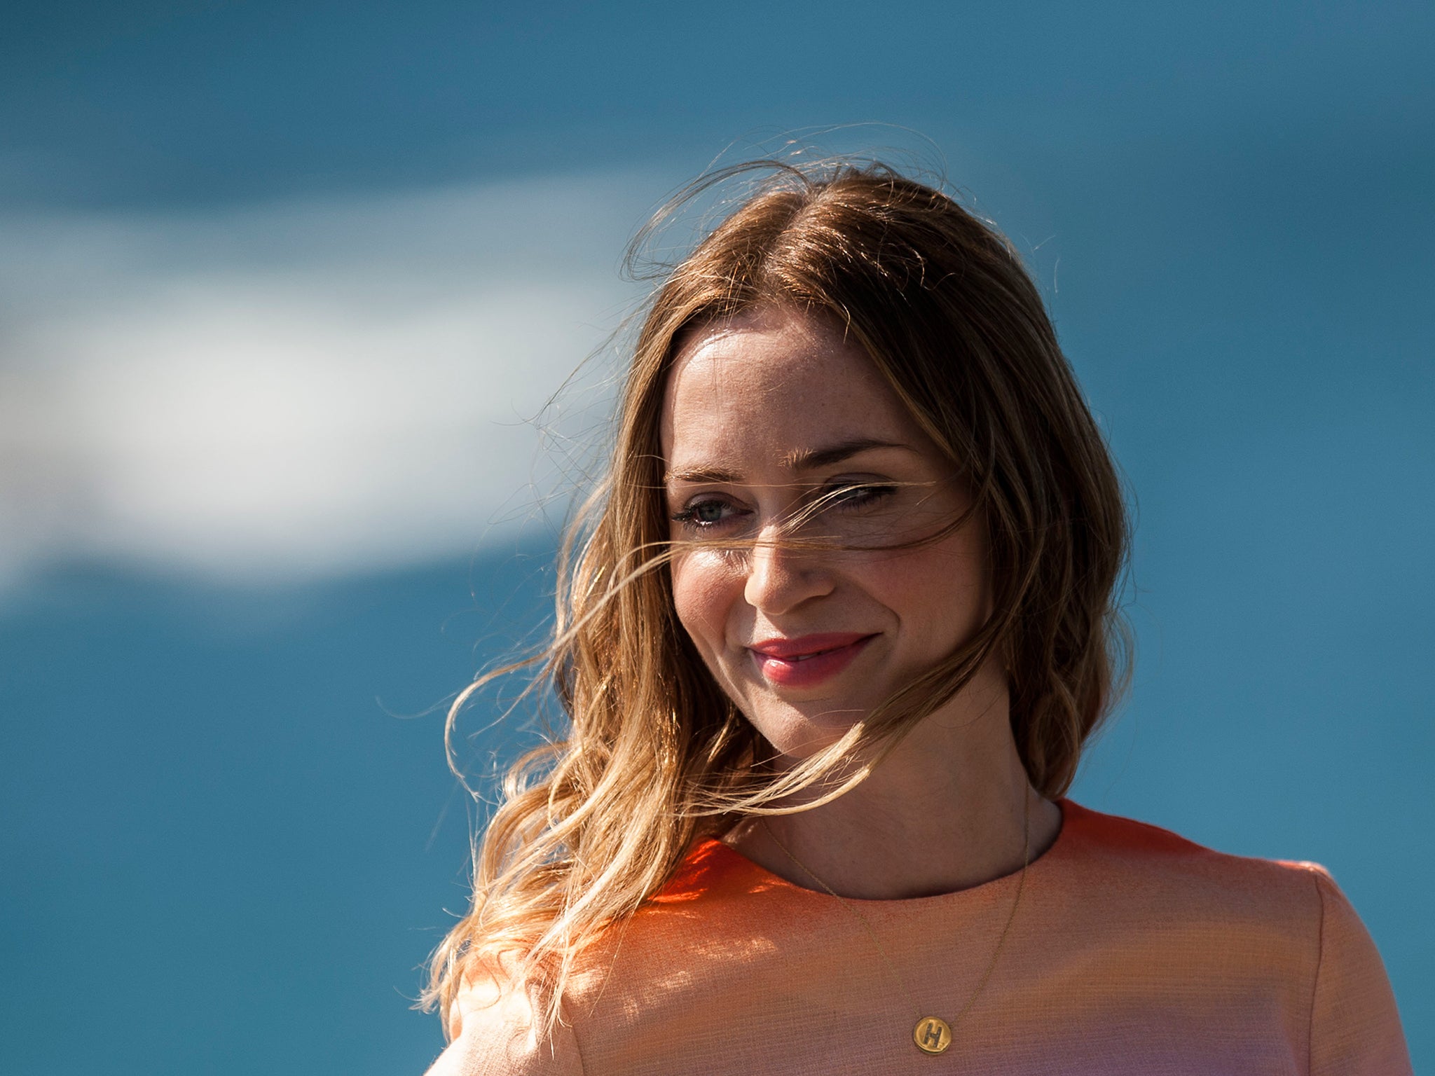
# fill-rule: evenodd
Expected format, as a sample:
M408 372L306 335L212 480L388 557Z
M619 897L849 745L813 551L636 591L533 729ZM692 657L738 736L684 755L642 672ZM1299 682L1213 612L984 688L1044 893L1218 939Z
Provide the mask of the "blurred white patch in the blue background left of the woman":
M617 263L644 191L0 221L0 575L290 580L511 527L555 488L532 419L639 298Z

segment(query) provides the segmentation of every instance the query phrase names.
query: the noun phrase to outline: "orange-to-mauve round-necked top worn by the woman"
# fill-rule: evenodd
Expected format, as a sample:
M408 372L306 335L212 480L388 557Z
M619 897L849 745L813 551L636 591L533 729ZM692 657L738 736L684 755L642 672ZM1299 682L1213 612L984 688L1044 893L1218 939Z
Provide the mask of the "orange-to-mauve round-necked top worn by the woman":
M1325 869L1060 808L941 1054L920 1052L913 1027L971 997L1017 875L851 901L895 981L841 902L705 841L585 954L552 1039L535 1039L527 999L471 991L430 1076L1411 1072L1380 957Z

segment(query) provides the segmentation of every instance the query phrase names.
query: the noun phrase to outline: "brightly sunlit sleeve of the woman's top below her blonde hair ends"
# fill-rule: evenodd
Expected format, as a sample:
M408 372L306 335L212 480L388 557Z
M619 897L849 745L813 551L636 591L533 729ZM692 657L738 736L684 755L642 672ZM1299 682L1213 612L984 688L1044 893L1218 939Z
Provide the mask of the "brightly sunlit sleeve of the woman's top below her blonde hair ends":
M583 1056L573 1029L540 1034L532 996L471 983L458 997L453 1040L428 1076L581 1076Z

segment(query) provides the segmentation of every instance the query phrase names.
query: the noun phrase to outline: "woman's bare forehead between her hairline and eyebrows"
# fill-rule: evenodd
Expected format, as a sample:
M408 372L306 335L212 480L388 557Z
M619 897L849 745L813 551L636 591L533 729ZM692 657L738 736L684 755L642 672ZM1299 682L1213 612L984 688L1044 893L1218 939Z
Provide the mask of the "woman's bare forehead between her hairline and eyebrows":
M663 396L666 463L755 463L851 440L924 440L867 353L829 323L759 308L703 327Z

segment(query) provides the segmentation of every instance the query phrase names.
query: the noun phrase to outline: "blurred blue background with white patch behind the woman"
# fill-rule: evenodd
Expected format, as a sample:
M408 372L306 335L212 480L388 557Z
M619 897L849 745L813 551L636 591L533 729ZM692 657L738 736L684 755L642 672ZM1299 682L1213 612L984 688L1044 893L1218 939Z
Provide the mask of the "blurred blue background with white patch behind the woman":
M624 242L795 139L996 220L1122 463L1137 679L1078 798L1325 862L1435 1062L1432 23L7 6L0 1052L422 1070L466 846L429 710L541 615Z

